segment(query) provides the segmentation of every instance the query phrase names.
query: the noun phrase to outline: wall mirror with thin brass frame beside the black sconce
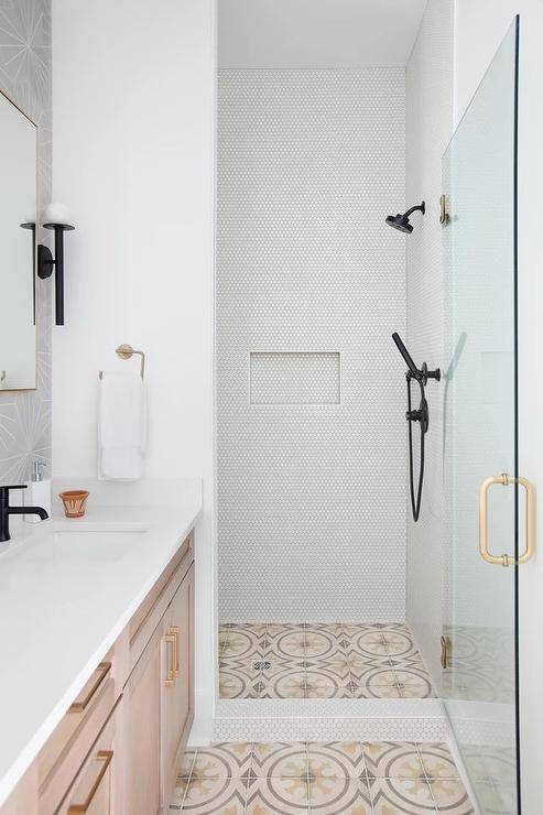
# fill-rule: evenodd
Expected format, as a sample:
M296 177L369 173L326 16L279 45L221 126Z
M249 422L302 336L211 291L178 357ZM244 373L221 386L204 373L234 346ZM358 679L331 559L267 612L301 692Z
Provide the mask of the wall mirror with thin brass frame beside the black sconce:
M0 391L36 387L37 128L0 91Z

